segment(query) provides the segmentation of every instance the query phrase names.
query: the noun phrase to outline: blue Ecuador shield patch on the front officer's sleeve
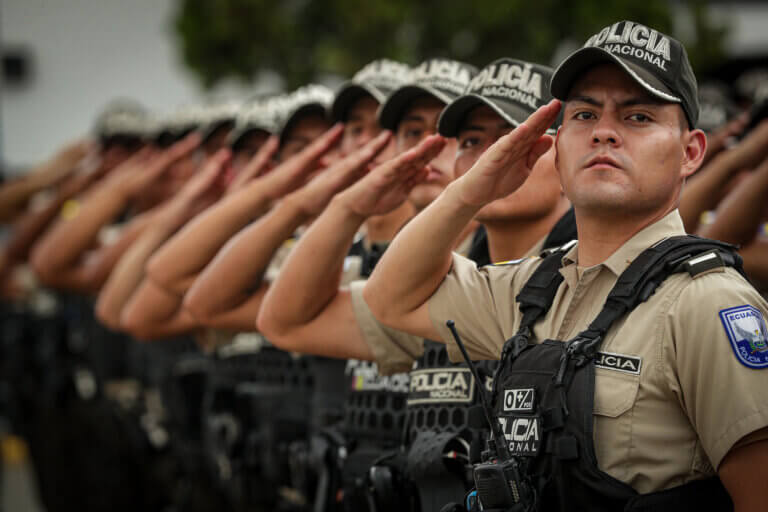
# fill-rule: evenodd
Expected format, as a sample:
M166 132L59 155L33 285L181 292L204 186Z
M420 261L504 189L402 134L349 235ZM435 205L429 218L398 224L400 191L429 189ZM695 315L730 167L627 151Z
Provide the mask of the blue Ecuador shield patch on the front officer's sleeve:
M760 310L747 305L723 309L720 320L736 359L747 368L768 368L768 329Z

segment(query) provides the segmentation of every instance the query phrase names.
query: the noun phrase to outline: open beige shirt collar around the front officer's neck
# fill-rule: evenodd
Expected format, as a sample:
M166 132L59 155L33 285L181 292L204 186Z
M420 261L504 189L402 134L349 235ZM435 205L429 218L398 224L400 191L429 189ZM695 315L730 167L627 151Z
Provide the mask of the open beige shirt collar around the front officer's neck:
M637 232L600 265L619 276L641 252L656 242L670 236L684 234L683 219L680 218L680 213L676 209L672 210L663 218ZM578 244L574 245L563 256L563 267L578 263L578 248Z

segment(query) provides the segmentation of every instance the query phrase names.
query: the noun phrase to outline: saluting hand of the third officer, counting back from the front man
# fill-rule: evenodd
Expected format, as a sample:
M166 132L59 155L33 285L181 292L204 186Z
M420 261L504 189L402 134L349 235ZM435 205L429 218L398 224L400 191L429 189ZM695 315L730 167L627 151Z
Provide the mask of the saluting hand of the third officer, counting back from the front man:
M376 155L389 142L391 132L384 131L362 148L331 165L291 196L291 200L309 216L319 215L333 198L362 176Z

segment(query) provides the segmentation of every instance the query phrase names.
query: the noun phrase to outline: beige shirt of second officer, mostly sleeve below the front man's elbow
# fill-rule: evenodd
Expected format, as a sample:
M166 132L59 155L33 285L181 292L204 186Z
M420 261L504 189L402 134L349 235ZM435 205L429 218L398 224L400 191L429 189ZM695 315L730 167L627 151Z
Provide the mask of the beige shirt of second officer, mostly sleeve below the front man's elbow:
M472 247L473 236L468 236L456 248L456 254L466 255ZM541 253L546 237L539 240L526 254L534 256ZM379 322L363 299L365 281L350 284L352 306L355 319L363 333L363 339L373 352L374 360L381 375L408 372L414 361L424 353L424 338L398 331ZM496 358L494 358L496 359Z

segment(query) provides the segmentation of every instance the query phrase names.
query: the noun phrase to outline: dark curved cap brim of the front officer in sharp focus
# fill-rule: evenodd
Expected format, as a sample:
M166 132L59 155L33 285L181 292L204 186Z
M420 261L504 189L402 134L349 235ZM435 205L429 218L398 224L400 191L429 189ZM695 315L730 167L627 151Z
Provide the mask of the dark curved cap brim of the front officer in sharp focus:
M559 100L566 100L574 82L588 69L604 63L617 64L637 84L652 96L670 103L682 103L664 83L640 66L622 59L598 47L582 48L572 53L555 70L552 75L550 91Z

